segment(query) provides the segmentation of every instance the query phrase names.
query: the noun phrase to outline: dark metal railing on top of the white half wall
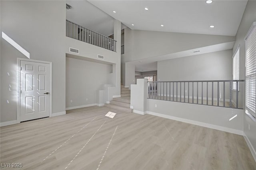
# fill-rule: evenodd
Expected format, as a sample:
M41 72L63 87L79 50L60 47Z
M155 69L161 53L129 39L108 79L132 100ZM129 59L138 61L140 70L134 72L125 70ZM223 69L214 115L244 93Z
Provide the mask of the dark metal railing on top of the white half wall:
M233 83L244 80L159 81L148 82L148 98L243 109L243 94L233 90ZM241 96L238 96L241 95Z

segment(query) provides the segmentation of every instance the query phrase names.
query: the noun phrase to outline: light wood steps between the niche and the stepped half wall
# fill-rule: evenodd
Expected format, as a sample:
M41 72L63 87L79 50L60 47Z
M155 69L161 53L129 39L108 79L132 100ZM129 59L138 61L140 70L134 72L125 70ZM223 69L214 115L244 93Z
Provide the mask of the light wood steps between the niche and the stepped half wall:
M131 113L133 109L130 108L130 97L131 91L129 88L125 88L124 85L121 84L121 97L113 98L110 104L105 104L105 106Z

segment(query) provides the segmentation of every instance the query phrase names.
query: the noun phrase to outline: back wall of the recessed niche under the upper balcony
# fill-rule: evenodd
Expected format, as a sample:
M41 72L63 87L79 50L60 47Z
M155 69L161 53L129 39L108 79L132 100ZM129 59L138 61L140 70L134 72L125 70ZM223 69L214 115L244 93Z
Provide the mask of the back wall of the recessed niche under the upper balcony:
M111 83L111 72L111 65L67 57L66 108L96 104L96 96L102 84Z

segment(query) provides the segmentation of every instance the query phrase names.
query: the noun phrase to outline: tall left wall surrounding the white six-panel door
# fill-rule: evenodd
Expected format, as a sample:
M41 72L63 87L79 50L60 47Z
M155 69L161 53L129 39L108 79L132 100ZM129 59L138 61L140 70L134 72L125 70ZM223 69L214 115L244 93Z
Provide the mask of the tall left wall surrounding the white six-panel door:
M27 50L31 59L52 62L52 113L65 112L66 2L0 1L0 4L1 32ZM1 38L1 122L17 119L17 58L26 57Z

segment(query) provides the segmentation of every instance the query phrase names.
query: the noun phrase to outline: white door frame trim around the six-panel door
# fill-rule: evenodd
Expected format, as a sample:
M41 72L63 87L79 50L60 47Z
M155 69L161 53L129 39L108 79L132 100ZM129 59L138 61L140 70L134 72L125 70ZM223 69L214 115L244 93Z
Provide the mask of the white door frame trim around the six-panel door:
M50 96L49 96L49 117L52 117L52 62L40 61L40 60L31 60L26 58L17 58L17 123L20 123L20 62L29 61L29 62L39 62L44 64L49 64L49 75L50 75Z

